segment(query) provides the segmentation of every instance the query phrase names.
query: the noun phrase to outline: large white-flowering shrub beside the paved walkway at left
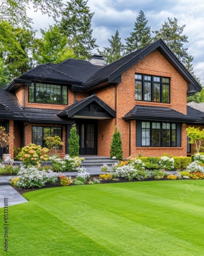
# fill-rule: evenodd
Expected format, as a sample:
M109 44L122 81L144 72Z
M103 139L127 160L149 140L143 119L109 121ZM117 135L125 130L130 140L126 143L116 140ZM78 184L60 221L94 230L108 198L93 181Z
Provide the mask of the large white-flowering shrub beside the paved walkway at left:
M46 182L55 183L58 177L52 170L38 170L35 166L25 167L21 166L18 172L19 181L17 181L17 187L30 188L30 187L42 187Z

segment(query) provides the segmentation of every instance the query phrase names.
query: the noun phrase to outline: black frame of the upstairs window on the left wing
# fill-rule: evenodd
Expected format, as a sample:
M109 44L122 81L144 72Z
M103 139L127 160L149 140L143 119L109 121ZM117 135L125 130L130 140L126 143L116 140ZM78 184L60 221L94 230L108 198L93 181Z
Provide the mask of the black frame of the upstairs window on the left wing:
M39 102L36 101L36 84L42 84L42 85L49 85L49 86L60 86L60 103L50 103L50 102ZM30 94L31 94L31 87L34 87L33 89L33 100L30 100ZM67 88L67 97L66 97L66 103L63 103L63 93L64 89ZM68 87L60 84L55 84L55 83L40 83L40 82L32 82L32 84L29 86L28 89L28 102L29 103L38 103L38 104L55 104L55 105L68 105Z

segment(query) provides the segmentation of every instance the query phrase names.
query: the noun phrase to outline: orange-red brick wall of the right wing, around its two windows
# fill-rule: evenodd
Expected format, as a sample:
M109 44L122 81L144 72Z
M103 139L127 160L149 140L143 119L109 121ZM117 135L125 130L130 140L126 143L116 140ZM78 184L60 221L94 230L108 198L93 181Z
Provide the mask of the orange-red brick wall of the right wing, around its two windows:
M135 100L135 73L170 77L170 103L146 102ZM129 123L122 117L133 109L135 104L165 106L176 111L187 113L186 100L187 83L163 57L155 50L140 60L136 65L122 74L121 83L117 85L117 126L121 133L123 157L129 156ZM115 88L109 86L94 92L98 97L115 109ZM98 121L98 155L110 155L110 143L114 132L114 120ZM106 138L106 145L104 140ZM186 156L186 125L182 125L181 147L136 147L136 121L131 121L131 155L161 156L164 153L174 156Z

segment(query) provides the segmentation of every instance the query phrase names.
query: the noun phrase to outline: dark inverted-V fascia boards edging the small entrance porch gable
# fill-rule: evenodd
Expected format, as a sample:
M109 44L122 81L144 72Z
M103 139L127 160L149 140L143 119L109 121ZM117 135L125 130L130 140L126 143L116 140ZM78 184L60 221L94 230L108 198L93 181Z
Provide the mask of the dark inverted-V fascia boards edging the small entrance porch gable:
M62 112L62 114L66 113L68 117L72 117L74 114L78 113L80 110L85 108L85 106L94 101L98 103L98 105L101 106L103 109L105 109L113 118L115 118L115 111L111 109L110 106L108 106L103 100L99 99L96 95L93 95L93 97L85 100L84 102L76 106L73 110L71 110L69 113L67 112L67 110L65 110L64 113Z

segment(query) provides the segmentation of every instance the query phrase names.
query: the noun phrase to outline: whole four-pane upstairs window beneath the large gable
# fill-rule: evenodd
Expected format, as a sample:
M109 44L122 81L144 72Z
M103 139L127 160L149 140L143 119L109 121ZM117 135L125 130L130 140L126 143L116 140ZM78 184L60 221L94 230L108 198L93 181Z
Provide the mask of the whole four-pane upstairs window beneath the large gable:
M170 102L170 78L135 74L135 99Z

